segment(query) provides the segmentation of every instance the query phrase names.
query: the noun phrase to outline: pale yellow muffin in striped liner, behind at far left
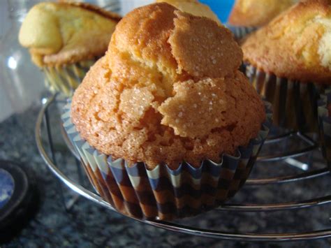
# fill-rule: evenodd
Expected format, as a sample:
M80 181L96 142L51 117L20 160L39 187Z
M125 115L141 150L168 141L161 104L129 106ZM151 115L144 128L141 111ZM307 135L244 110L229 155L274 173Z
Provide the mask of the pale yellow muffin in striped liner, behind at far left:
M120 19L87 3L38 3L27 14L19 41L45 72L52 92L68 96L105 54Z

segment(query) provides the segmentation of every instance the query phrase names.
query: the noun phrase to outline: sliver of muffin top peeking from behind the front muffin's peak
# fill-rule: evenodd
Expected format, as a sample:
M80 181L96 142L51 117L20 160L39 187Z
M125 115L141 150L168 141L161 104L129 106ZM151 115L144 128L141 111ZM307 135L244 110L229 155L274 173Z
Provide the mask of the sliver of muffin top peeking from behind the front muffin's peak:
M191 15L208 17L214 20L218 24L221 24L219 17L207 6L206 4L200 3L198 0L156 0L157 3L165 2L172 6L175 6L182 12L189 13Z

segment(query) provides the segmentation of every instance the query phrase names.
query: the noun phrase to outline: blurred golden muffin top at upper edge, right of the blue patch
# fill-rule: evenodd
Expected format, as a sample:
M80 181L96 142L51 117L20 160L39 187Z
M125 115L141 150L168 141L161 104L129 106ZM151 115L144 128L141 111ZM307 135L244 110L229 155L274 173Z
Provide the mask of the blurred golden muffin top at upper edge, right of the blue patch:
M299 0L237 0L228 23L233 26L261 27Z

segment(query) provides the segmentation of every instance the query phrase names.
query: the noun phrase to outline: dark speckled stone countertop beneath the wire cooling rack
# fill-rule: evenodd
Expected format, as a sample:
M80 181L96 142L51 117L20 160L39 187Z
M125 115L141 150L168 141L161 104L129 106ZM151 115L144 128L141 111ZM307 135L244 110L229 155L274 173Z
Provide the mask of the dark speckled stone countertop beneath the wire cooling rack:
M331 240L289 243L230 242L165 231L139 223L80 198L71 212L61 204L60 185L66 199L73 191L61 184L38 154L34 125L39 107L14 115L0 124L0 159L17 161L31 168L41 193L40 208L29 224L13 240L0 247L330 247ZM78 179L75 160L61 139L59 116L51 110L52 130L59 168ZM45 137L45 136L43 136ZM295 142L294 142L295 143ZM297 146L297 143L295 143ZM273 149L273 148L270 148ZM276 151L277 148L274 148ZM323 166L314 163L313 168ZM251 177L272 177L298 173L299 169L281 163L258 163ZM88 185L88 182L86 182ZM304 182L246 186L233 203L277 203L307 200L331 194L331 177ZM228 232L281 233L331 228L331 205L281 212L238 213L214 210L179 224Z

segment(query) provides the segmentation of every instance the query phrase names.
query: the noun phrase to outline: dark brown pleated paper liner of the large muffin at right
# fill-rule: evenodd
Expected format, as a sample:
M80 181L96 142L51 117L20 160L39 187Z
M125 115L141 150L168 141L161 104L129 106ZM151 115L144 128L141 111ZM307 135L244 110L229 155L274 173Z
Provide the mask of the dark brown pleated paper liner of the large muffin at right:
M275 126L318 132L317 101L323 85L278 78L251 65L244 65L243 70L258 94L272 103Z

